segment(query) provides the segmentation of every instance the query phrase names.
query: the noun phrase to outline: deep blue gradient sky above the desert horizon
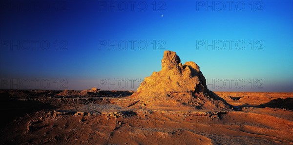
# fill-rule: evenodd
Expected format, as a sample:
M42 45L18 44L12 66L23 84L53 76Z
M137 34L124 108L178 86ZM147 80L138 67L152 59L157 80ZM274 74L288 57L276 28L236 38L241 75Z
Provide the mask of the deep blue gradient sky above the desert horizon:
M0 89L136 90L165 49L212 91L292 92L293 1L232 2L1 0Z

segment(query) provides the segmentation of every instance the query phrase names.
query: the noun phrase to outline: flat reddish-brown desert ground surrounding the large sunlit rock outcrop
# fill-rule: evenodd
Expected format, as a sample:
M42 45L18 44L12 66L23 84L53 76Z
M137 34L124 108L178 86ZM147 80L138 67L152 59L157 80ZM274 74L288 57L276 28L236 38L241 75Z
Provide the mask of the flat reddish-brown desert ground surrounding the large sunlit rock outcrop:
M65 92L1 90L0 143L293 144L293 93L215 92L227 111L149 107L133 91Z

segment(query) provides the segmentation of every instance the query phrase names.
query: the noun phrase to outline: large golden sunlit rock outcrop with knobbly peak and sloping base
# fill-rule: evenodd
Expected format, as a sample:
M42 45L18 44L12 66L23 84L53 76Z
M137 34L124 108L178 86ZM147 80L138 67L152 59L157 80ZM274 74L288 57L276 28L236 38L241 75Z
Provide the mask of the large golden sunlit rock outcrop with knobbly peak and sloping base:
M153 72L129 98L150 106L192 106L198 109L229 109L228 103L209 91L206 79L194 62L182 65L180 57L165 51L162 70Z

